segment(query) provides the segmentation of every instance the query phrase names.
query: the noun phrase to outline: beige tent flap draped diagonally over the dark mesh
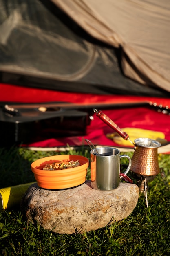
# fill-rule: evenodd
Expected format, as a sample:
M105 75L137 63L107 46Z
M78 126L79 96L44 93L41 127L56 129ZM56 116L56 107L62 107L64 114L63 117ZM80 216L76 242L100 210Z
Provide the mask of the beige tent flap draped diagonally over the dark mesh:
M122 48L126 76L170 92L168 0L52 0L85 31Z

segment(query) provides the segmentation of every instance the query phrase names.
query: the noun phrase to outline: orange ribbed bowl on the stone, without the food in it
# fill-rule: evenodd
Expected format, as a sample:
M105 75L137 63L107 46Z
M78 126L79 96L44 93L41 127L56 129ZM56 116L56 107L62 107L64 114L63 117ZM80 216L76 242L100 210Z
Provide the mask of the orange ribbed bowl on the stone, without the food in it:
M78 160L80 166L64 170L42 170L46 164L57 160ZM88 158L80 155L55 155L34 161L31 164L31 171L34 173L38 186L43 189L69 189L86 181L88 165Z

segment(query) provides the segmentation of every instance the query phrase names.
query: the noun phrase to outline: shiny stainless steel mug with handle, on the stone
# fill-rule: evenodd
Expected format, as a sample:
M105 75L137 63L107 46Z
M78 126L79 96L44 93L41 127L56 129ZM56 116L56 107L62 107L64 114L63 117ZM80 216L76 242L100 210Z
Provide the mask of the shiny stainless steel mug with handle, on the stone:
M91 150L91 187L98 190L113 190L119 186L120 159L128 159L128 168L123 173L126 175L130 170L131 159L128 155L120 155L117 148L101 147Z

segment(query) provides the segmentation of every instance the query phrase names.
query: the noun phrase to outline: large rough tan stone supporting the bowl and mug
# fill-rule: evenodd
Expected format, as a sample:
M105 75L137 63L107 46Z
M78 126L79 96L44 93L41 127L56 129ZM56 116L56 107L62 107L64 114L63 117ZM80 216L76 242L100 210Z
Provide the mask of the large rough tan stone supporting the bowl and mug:
M29 221L60 234L96 230L126 218L135 208L139 188L121 182L117 189L99 191L91 181L73 189L46 190L31 185L22 198L21 209Z

